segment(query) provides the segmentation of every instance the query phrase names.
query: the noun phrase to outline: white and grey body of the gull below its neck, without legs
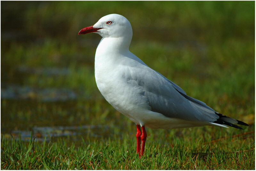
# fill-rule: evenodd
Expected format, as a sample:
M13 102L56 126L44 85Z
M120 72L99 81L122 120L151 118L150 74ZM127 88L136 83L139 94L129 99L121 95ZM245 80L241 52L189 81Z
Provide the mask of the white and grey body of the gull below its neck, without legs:
M99 46L101 46L101 43L103 42L101 41ZM184 128L211 125L209 122L203 124L202 119L198 120L196 117L190 117L192 116L191 111L195 114L200 113L192 109L188 99L183 97L165 77L149 68L129 50L123 52L123 54L113 54L108 51L106 54L102 54L102 51L100 51L100 55L98 55L98 48L95 55L95 80L98 89L117 111L133 122L149 128ZM147 75L150 75L151 79ZM163 92L152 87L154 80L158 80ZM147 84L148 89L145 89L145 84ZM158 90L158 92L154 90ZM171 117L153 112L145 92L153 97L159 96L159 94L169 97L169 101L166 98L164 100L172 110L169 112ZM157 97L156 100L158 100ZM175 104L175 101L180 101L181 103ZM187 106L187 108L181 106ZM185 114L188 116L185 116ZM217 118L218 116L216 115L215 117ZM191 120L188 120L190 118ZM211 119L213 120L214 118L209 117L207 121L211 121Z

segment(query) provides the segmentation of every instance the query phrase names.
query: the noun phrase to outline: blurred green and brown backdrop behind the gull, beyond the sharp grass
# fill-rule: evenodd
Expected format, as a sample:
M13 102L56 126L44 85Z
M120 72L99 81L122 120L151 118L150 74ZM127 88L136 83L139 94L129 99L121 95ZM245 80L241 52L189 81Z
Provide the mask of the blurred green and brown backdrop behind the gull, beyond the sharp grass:
M191 97L255 130L255 2L2 1L1 137L93 141L135 137L94 78L100 35L77 35L102 16L132 24L130 51ZM217 127L149 130L183 136ZM182 133L182 134L181 134Z

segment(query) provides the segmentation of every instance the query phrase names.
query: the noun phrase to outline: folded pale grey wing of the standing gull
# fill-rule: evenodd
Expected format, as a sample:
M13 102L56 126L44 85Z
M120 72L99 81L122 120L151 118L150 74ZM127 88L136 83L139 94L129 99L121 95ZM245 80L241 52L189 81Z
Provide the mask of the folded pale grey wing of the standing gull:
M153 112L193 121L213 122L219 118L204 102L187 96L178 85L149 67L132 68L126 79L142 90Z

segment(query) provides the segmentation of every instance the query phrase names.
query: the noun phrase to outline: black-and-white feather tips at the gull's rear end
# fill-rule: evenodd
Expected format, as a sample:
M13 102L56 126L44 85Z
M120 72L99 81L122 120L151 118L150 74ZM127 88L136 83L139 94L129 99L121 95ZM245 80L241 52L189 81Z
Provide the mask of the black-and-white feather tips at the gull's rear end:
M236 119L230 118L230 117L225 116L225 115L223 115L221 113L218 113L218 112L216 112L216 114L219 116L219 119L217 119L213 123L218 123L218 124L221 124L221 125L227 125L227 126L238 128L238 129L243 129L243 128L241 128L241 127L239 127L239 126L237 126L235 124L248 126L248 124L246 124L246 123L244 123L244 122L242 122L240 120L236 120Z

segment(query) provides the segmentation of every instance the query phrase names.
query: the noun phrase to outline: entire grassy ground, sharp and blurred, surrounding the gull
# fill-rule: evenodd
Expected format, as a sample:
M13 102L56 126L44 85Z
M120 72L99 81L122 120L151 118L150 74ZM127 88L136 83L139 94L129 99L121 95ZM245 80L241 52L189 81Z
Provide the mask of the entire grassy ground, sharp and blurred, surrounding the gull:
M135 124L95 83L100 36L77 35L110 13L130 20L132 53L249 127L146 128L138 159ZM1 2L1 169L254 170L254 131L255 2Z

